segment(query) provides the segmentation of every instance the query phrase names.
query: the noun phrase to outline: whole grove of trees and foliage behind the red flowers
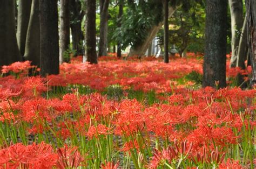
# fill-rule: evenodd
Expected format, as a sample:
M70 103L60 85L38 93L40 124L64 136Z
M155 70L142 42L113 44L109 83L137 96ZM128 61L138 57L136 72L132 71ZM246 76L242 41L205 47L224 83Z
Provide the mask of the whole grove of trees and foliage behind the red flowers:
M30 60L41 75L58 74L59 64L84 55L98 57L130 47L125 59L152 55L157 38L165 63L171 46L204 53L203 86L226 86L226 54L231 67L253 67L255 82L253 0L2 0L0 66ZM228 5L229 4L229 5ZM155 47L155 46L153 46ZM245 64L247 61L247 64ZM238 75L237 85L243 84Z

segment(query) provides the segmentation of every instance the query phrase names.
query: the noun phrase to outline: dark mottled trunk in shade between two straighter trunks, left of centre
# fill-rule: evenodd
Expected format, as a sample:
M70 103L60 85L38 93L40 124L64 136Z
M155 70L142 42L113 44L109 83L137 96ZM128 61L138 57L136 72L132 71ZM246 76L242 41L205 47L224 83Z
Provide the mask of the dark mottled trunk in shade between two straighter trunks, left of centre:
M81 8L81 2L79 0L70 0L70 28L72 34L72 46L77 55L84 55L83 40L84 35L82 32L82 19L84 17L84 11Z

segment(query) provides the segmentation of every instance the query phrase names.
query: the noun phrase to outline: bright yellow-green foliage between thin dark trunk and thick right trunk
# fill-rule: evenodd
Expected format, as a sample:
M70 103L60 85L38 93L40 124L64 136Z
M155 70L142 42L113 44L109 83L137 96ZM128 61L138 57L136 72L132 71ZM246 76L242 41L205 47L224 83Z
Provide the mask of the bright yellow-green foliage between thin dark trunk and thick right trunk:
M179 8L170 18L169 45L175 45L179 53L204 51L205 11L201 4L190 9ZM164 31L158 33L160 45L164 44Z

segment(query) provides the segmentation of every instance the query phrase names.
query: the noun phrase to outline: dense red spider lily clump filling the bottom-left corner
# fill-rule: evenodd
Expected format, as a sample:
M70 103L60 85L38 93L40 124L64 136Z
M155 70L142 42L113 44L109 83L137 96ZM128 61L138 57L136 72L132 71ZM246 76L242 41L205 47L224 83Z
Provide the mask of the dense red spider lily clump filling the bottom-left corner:
M64 147L55 152L51 145L21 143L0 150L1 168L77 168L83 161L76 147Z

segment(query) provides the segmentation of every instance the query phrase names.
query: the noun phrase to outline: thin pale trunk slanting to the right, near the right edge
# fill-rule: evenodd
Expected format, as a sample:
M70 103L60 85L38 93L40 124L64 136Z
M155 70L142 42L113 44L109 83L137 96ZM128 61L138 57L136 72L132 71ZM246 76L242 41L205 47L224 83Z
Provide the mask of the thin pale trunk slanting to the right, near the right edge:
M244 19L244 24L242 25L242 32L239 41L238 47L238 57L237 57L237 67L245 69L245 60L247 58L247 51L248 51L248 44L247 44L247 24L246 24L246 17ZM244 75L238 74L238 83L237 86L240 86L242 82L244 82ZM244 83L245 84L245 83ZM242 86L243 88L246 87L246 84Z

